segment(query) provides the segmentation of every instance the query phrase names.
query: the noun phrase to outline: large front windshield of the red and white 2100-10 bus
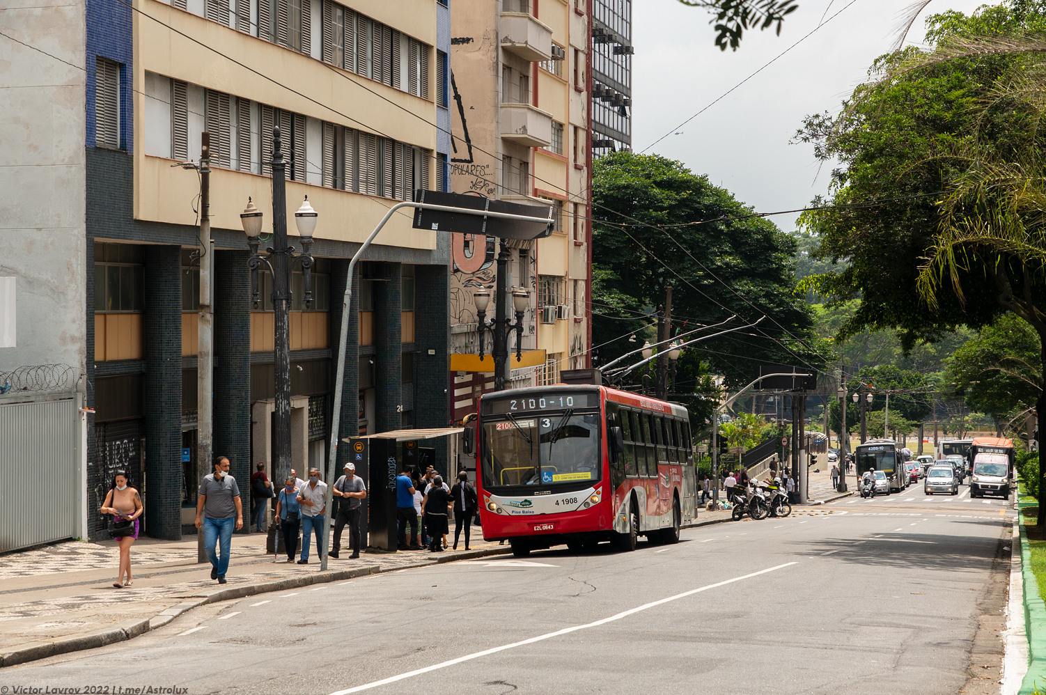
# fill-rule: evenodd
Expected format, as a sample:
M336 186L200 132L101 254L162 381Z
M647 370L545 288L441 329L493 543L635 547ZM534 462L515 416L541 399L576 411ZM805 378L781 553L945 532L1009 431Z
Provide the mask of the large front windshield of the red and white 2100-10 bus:
M599 414L506 413L483 423L483 487L599 479Z

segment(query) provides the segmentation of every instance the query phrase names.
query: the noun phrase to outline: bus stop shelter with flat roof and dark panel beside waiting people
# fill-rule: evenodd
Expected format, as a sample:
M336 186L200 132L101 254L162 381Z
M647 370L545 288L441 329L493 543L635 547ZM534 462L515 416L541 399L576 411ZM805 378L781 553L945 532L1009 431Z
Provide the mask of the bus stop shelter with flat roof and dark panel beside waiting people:
M428 429L396 429L363 436L349 436L342 442L349 446L349 461L356 473L367 486L367 516L364 524L366 546L378 551L396 551L395 477L407 467L435 465L434 449L422 446L444 436L448 453L457 450L457 436L463 427L434 427ZM445 461L456 462L448 455ZM448 475L451 470L446 471Z

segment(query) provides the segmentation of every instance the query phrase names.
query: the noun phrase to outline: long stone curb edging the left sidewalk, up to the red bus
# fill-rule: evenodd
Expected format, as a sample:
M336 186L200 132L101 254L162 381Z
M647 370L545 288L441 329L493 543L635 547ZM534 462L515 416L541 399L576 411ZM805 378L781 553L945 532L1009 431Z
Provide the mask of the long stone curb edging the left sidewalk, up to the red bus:
M504 555L506 553L511 553L511 548L507 545L504 547L499 546L469 551L468 553L460 553L454 556L438 556L435 558L435 562L436 564L444 564L458 560L474 560L476 558L487 557L491 555ZM17 664L25 664L26 662L35 662L48 656L56 656L58 654L82 651L84 649L95 649L97 647L111 645L114 642L131 640L132 637L137 637L138 635L144 634L150 630L163 627L182 613L186 613L194 608L205 606L209 603L220 603L222 601L243 599L256 593L285 591L287 589L298 588L301 586L310 586L311 584L338 582L346 579L355 579L357 577L365 577L368 575L380 575L386 571L410 569L412 567L422 567L427 564L429 563L416 562L397 567L389 567L384 570L381 569L379 565L368 565L365 567L356 567L354 569L334 569L313 575L302 575L301 577L279 579L272 582L244 584L242 586L233 586L224 589L217 589L214 591L197 593L190 597L192 600L183 601L182 603L174 605L151 619L136 618L123 621L122 623L117 623L113 627L105 630L17 645L0 652L0 668L15 666Z

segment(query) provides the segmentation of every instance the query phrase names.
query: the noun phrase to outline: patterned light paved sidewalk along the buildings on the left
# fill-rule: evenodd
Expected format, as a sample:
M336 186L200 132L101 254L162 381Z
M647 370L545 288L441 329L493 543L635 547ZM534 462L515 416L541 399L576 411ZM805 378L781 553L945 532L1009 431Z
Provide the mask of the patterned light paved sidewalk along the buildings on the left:
M812 505L843 496L823 477L811 480ZM730 510L701 510L688 528L729 520ZM210 579L210 564L197 562L196 536L140 538L131 548L134 585L123 588L112 585L119 564L116 541L12 553L0 562L0 667L128 640L208 603L511 552L507 543L483 541L479 529L473 539L470 551L363 553L358 560L347 559L343 550L341 559L332 558L327 571L320 571L315 554L308 565L290 564L286 556L273 561L265 552L265 534L235 534L228 584L220 585Z

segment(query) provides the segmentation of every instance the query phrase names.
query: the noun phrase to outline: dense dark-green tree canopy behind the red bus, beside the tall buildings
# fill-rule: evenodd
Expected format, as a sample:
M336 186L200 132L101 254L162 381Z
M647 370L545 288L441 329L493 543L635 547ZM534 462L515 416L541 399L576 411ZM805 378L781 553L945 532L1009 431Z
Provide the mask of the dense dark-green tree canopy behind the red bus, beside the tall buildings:
M793 293L794 239L752 216L729 192L678 161L619 152L593 162L592 200L596 364L644 338L656 342L650 327L668 286L673 335L737 316L687 340L767 316L755 329L686 349L677 393L709 372L736 387L751 381L760 363L823 362L811 343L810 308Z

